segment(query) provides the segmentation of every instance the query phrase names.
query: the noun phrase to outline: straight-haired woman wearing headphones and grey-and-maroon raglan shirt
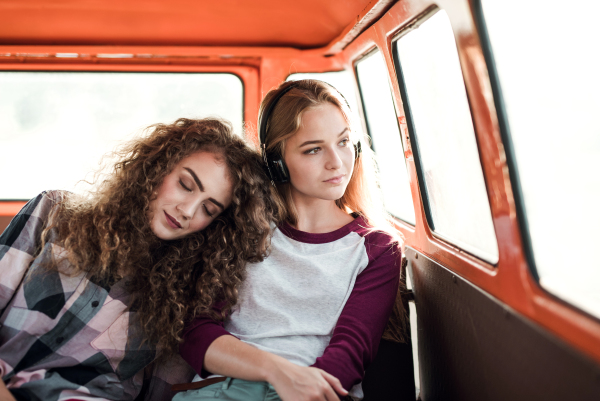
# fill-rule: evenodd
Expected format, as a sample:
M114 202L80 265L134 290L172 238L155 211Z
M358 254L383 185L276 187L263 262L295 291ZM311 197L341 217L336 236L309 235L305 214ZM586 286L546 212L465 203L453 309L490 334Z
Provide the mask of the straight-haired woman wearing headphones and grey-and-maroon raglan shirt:
M284 221L224 324L200 316L186 328L181 355L199 375L174 401L361 399L394 305L399 339L405 324L401 238L373 153L341 94L316 80L269 92L259 131Z

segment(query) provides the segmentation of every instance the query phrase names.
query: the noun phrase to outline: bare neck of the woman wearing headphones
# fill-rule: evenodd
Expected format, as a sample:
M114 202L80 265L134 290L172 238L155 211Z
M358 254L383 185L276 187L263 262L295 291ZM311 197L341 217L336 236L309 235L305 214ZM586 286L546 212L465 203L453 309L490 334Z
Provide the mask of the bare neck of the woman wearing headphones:
M354 220L354 217L341 210L332 200L304 198L295 196L292 199L298 221L296 229L307 233L319 234L335 231Z

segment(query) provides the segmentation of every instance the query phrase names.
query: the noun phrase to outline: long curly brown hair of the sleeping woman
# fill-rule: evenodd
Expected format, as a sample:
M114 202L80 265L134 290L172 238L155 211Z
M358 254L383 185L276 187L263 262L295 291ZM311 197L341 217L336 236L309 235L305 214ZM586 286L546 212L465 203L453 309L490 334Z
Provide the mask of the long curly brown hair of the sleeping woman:
M235 305L245 263L267 255L281 206L271 200L260 156L229 123L182 118L149 130L115 152L119 161L89 198L67 194L57 203L42 240L57 236L73 274L85 272L102 285L128 278L130 308L145 341L176 352L187 321L200 313L222 319ZM232 203L203 231L161 240L147 216L154 192L182 159L200 151L227 166ZM217 300L225 301L223 315L211 309Z

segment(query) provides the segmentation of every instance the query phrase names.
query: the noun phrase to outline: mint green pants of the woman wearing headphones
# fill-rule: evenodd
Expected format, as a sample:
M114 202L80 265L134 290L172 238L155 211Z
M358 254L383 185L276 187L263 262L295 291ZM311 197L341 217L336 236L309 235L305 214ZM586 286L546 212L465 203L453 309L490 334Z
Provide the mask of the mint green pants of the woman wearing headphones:
M227 378L224 382L211 384L199 390L182 391L173 401L281 401L277 392L267 382L250 382Z

